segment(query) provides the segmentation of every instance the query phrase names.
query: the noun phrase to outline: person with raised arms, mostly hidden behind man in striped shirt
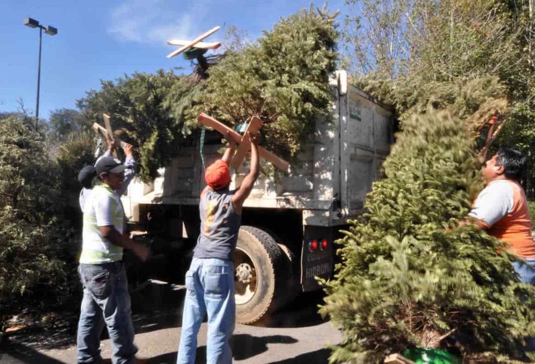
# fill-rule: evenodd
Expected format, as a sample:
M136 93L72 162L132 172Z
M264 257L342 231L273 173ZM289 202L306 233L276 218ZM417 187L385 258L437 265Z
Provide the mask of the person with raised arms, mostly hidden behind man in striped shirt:
M112 148L116 145L116 143L117 143L117 139L113 140L106 135L106 144L108 145L108 149L105 151L105 153L101 157L97 159L97 162L102 157L111 156ZM125 179L123 183L121 183L121 187L116 191L119 194L119 196L122 196L126 192L126 188L131 183L137 171L137 163L134 160L134 147L131 144L124 143L123 151L125 152L125 155L126 155L125 163L124 163L124 165L126 166L126 169L125 169ZM91 190L93 189L93 181L95 177L96 177L96 170L95 170L95 167L92 165L86 165L84 168L82 168L80 173L78 173L78 181L83 186L83 188L80 191L80 196L79 196L80 209L82 210L82 213L83 213L83 207L85 205L85 202L89 198L89 195L91 194Z

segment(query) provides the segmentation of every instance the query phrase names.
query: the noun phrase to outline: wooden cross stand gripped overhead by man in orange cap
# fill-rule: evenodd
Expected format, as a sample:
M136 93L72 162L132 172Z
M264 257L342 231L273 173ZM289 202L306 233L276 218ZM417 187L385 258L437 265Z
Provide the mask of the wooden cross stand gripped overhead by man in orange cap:
M251 141L249 140L247 132L253 135L258 133L263 124L262 120L257 117L253 117L251 119L251 122L249 123L249 126L247 127L246 134L244 134L242 137L242 135L234 131L232 128L226 126L223 123L218 122L216 119L206 115L204 112L201 112L201 114L197 117L197 121L205 126L209 126L217 130L223 135L228 132L229 137L232 138L232 140L236 143L239 143L240 146L238 147L238 150L236 151L236 154L234 155L231 161L231 166L235 170L239 168L241 162L243 161L243 158L251 147ZM271 162L278 169L282 171L288 170L288 167L290 165L288 162L260 146L258 146L258 155L266 161Z

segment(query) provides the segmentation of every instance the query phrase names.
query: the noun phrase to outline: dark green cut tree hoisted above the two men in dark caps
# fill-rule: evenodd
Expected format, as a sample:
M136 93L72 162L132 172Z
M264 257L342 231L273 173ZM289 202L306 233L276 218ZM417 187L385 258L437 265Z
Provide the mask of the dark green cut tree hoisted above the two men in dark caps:
M144 180L157 176L157 169L169 163L184 139L184 120L173 118L164 105L167 93L180 80L173 72L136 72L116 82L102 81L100 91L90 90L77 103L87 120L103 124L102 113L111 116L120 138L136 147Z

